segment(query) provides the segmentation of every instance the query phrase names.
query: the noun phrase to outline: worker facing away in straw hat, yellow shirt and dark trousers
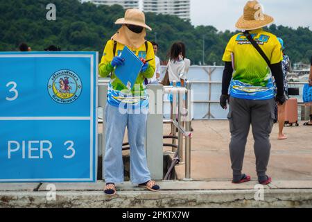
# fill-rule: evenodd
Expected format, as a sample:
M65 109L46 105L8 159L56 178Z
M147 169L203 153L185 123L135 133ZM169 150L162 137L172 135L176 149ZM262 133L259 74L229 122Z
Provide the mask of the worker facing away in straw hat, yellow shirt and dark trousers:
M223 56L225 70L220 105L227 109L229 101L233 183L251 179L241 172L250 125L254 135L258 181L262 185L272 181L266 175L271 147L269 137L275 119L275 103L282 105L286 100L281 44L275 35L262 29L273 21L272 17L262 13L258 1L248 1L243 16L236 23L236 28L244 32L229 40ZM272 76L277 85L276 95Z

